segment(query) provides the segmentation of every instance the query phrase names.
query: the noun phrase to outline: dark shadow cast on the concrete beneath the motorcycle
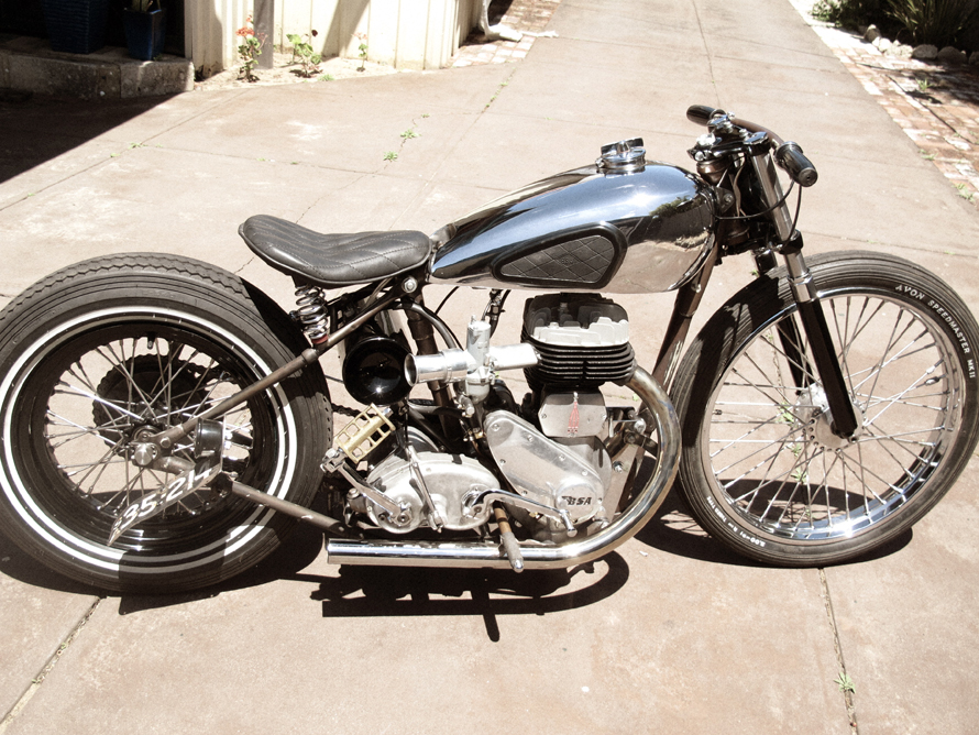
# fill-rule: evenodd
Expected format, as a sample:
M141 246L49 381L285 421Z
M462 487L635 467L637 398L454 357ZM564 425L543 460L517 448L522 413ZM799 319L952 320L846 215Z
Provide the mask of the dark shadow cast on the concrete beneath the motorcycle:
M890 556L906 546L908 530L876 551L847 563ZM728 551L693 519L679 493L670 493L654 518L635 540L669 555L733 566L761 566ZM310 599L322 603L323 617L397 615L483 615L491 638L496 615L544 615L595 604L615 594L629 579L626 560L616 552L566 570L426 569L397 567L340 567L338 575L304 572L322 551L323 535L298 526L283 546L252 569L221 584L180 594L119 596L119 614L180 605L222 592L261 586L278 580L319 586ZM62 577L0 536L0 573L32 586L69 594L107 595L105 591Z

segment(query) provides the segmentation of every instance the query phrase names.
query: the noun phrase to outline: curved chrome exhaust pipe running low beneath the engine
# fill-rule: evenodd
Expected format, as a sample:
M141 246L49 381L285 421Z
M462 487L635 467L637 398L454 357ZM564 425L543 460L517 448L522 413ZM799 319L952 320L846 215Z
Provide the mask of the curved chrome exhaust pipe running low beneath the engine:
M680 462L676 412L666 391L641 368L636 368L626 386L642 399L647 423L652 420L657 427L659 458L652 476L626 512L597 534L559 546L521 545L525 569L563 569L604 557L635 536L666 500ZM378 567L510 567L502 545L492 541L329 539L327 560L332 564Z

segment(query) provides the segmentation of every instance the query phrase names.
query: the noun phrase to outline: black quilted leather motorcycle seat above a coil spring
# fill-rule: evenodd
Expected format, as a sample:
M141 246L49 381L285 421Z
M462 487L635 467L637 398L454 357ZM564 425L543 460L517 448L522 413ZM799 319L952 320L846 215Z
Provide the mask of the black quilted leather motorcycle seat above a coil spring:
M431 252L424 232L320 234L278 217L250 217L239 234L272 267L300 281L338 288L418 267Z

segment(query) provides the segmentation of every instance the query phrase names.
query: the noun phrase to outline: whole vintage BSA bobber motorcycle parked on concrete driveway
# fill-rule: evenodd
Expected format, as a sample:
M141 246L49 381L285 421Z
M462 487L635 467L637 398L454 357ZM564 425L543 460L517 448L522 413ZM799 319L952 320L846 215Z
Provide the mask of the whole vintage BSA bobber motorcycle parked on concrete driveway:
M976 321L908 261L804 259L802 149L723 110L688 117L706 125L695 174L620 141L433 235L252 217L240 234L294 279L290 314L186 257L44 278L0 315L0 530L113 591L220 582L297 519L333 563L519 572L608 553L679 474L701 526L751 559L887 544L976 448ZM741 254L757 277L684 353L714 268ZM432 284L486 289L464 340L426 306ZM499 340L514 289L531 292L522 330ZM671 290L647 372L603 294ZM331 404L332 349L358 408Z

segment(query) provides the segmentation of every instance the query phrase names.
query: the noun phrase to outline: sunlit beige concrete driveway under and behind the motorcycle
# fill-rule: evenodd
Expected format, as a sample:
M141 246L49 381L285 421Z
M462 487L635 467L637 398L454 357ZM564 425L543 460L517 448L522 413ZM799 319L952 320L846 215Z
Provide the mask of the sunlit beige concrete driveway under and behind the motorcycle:
M250 215L432 231L610 141L641 135L650 157L686 166L698 102L813 158L811 250L903 255L976 310L975 209L788 0L562 0L549 30L518 64L0 102L0 294L152 250L241 273L288 308L288 278L238 239ZM702 314L751 267L725 262ZM651 363L669 295L617 300ZM463 296L452 312L461 325L481 308ZM502 329L516 334L518 316ZM971 733L977 489L967 472L877 558L826 570L745 563L675 501L569 572L337 568L301 528L231 583L169 597L98 597L0 538L0 733L810 735L855 732L854 717L865 734Z

